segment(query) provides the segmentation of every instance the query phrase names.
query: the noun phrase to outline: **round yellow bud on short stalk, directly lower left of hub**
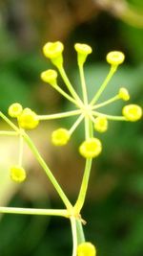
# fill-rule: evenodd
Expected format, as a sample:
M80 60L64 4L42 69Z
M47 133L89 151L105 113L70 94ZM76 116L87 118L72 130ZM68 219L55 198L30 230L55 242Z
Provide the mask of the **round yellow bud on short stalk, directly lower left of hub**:
M68 143L69 139L70 139L70 133L69 133L69 130L66 128L58 128L52 131L51 142L55 146L64 146Z

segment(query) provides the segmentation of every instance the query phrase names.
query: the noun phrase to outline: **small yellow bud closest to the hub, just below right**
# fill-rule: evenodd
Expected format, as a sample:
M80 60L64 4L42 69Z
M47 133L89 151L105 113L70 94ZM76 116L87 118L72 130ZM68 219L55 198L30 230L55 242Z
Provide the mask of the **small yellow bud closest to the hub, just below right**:
M105 132L108 129L108 120L104 116L98 116L94 122L94 128L99 132Z

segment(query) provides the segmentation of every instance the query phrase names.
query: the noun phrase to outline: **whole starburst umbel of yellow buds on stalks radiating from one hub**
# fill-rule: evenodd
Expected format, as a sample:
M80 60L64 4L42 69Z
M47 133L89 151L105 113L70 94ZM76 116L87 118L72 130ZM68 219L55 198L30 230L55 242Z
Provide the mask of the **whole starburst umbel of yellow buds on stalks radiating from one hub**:
M82 98L77 94L76 88L72 86L63 65L63 43L60 41L48 42L43 47L43 52L46 58L50 58L51 62L56 66L60 76L62 77L68 89L64 90L57 83L57 72L55 70L47 70L42 72L41 78L48 82L58 91L63 97L69 100L74 106L71 111L64 113L38 116L39 120L51 120L57 118L66 118L77 116L71 128L57 128L51 134L51 142L55 146L66 145L74 130L84 121L85 135L84 140L79 146L80 154L85 158L97 157L102 151L102 143L97 138L97 132L106 132L109 127L109 121L131 121L135 122L142 117L142 108L139 105L125 105L122 109L122 114L119 116L108 115L100 112L102 106L110 105L115 101L127 102L130 100L130 94L126 87L121 87L116 95L112 95L111 99L105 102L100 102L99 98L106 89L109 81L117 70L117 67L125 60L125 55L120 51L112 51L107 54L106 60L110 64L110 71L99 89L89 101L86 80L84 76L84 63L87 57L92 54L92 47L85 43L75 43L74 50L77 55L77 63L79 68L79 76L81 81ZM95 133L95 135L94 135Z

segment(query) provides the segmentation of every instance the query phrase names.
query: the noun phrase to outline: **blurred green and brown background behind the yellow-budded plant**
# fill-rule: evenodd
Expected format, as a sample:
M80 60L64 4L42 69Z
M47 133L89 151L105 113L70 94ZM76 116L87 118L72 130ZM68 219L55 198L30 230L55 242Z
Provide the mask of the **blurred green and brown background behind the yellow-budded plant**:
M7 113L13 102L31 107L39 114L70 109L40 73L51 67L43 57L47 41L65 44L65 66L78 84L74 42L92 46L86 63L89 95L108 74L105 61L111 50L121 50L126 61L119 67L103 99L120 86L131 94L130 103L143 104L143 1L142 0L1 0L0 1L0 109ZM63 82L61 86L63 86ZM79 90L77 85L76 90ZM120 114L124 103L108 108ZM72 120L45 122L31 137L51 166L66 193L75 201L84 170L77 147L82 128L66 148L51 145L51 130L69 128ZM8 128L0 121L2 129ZM92 176L82 216L87 221L87 241L98 256L143 255L143 123L111 123L99 136L103 153L92 166ZM17 186L10 181L10 164L18 158L15 138L0 140L0 205L61 208L63 204L41 168L25 148L27 181ZM0 256L57 256L72 254L69 221L62 218L0 215Z

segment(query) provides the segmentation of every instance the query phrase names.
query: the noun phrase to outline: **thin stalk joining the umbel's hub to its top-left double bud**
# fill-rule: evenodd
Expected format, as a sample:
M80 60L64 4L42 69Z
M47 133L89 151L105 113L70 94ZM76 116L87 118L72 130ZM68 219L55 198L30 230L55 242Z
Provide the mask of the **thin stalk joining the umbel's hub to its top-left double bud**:
M82 101L81 101L80 98L79 98L79 96L77 95L77 93L76 93L75 90L73 89L72 83L71 83L71 81L69 80L69 78L67 77L67 74L66 74L66 72L65 72L65 70L64 70L64 67L61 66L61 67L58 68L58 70L59 70L59 73L60 73L60 75L61 75L63 81L64 81L65 84L67 85L67 88L68 88L69 91L71 92L72 97L77 101L77 103L83 105L83 104L82 104Z

